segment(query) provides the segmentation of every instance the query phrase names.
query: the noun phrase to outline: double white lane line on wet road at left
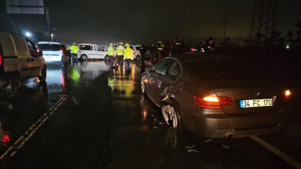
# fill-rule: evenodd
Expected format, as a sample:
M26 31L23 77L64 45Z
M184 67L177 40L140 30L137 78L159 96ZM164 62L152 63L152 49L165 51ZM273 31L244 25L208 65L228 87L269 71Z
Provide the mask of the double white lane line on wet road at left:
M23 146L23 144L33 135L34 132L36 132L38 130L38 128L48 119L48 117L55 111L57 110L57 108L66 100L66 95L62 96L52 107L50 107L50 109L43 114L43 116L36 121L15 143L13 146L11 146L1 157L0 160L2 158L5 157L5 155L7 155L10 150L14 150L14 152L11 153L10 156L13 156L16 152L17 149L19 149L20 147ZM29 134L30 133L30 134ZM21 142L20 142L21 141ZM18 144L19 143L19 144Z

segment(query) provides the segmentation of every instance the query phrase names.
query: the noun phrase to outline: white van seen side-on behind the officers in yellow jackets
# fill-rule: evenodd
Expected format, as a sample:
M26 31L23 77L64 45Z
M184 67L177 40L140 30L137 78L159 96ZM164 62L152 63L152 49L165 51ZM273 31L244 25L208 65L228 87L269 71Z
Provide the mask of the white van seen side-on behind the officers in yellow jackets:
M100 46L88 43L75 43L78 48L77 57L82 60L87 59L104 59L109 60L108 52Z

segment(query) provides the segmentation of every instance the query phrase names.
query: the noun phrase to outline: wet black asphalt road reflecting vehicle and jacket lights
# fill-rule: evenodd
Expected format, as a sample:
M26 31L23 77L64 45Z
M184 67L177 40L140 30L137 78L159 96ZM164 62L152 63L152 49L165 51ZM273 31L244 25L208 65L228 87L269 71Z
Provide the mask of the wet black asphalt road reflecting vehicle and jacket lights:
M159 125L140 75L135 64L131 72L95 60L48 65L46 83L27 80L19 96L0 100L0 168L294 168L251 137L206 142ZM301 162L300 141L259 138Z

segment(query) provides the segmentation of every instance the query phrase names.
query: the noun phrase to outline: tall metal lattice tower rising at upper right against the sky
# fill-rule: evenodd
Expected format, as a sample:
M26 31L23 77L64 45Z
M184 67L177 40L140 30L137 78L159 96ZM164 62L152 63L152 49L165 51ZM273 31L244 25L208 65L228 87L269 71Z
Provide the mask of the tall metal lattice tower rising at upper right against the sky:
M250 43L256 46L266 46L273 42L272 33L276 29L277 0L255 0Z

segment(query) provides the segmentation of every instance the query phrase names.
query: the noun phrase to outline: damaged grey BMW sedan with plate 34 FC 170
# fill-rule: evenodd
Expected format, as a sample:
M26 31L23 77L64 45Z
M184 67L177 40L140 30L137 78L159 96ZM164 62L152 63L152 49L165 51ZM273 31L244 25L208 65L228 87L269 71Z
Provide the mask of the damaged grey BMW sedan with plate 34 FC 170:
M214 54L167 57L141 75L141 90L167 123L203 137L235 138L281 129L291 94L237 60Z

